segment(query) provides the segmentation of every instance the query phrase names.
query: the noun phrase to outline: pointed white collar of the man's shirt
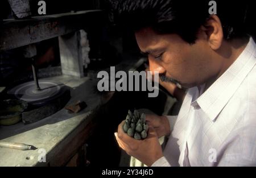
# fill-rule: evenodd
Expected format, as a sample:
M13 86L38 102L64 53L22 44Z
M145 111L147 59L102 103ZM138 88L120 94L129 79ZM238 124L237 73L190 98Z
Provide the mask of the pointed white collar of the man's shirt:
M198 104L214 121L256 63L256 44L252 38L236 61L203 93Z

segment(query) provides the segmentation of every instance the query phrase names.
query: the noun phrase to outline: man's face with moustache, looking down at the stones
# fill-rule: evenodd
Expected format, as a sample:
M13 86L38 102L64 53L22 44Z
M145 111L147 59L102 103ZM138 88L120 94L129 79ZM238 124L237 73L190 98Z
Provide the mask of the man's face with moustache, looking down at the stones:
M204 35L189 44L176 34L159 35L151 28L135 33L139 48L147 53L150 71L159 71L184 88L199 86L214 77L219 68L214 51ZM216 59L216 58L215 58Z

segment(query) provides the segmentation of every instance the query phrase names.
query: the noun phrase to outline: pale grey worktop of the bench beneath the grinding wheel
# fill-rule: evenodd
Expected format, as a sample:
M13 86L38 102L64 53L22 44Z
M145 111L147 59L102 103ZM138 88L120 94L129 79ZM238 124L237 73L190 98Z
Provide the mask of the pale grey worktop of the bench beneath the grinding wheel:
M46 79L46 78L44 78ZM101 97L97 89L97 78L74 78L57 76L48 78L63 82L71 88L73 104L78 100L88 105L77 114L61 109L57 113L38 122L24 125L22 122L12 126L0 126L0 140L5 142L25 143L37 147L37 150L14 150L0 147L0 166L46 166L62 165L61 157L68 156L72 150L69 147L79 133L85 130L90 122L90 113L101 104ZM42 148L42 149L41 149ZM65 148L63 150L63 148ZM46 151L46 162L38 162L38 158Z

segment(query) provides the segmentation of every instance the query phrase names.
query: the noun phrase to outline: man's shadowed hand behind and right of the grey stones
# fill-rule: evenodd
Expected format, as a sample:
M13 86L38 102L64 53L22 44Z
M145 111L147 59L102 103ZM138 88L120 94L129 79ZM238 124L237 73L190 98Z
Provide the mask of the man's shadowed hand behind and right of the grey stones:
M146 122L148 126L152 126L158 135L158 138L161 136L169 136L171 134L170 123L167 117L146 114Z

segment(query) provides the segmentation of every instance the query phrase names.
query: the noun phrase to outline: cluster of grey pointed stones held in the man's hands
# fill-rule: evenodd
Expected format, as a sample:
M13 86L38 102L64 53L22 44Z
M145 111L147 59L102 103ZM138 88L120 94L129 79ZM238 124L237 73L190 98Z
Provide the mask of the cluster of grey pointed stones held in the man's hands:
M137 140L147 138L148 125L146 123L146 115L144 113L140 114L136 109L133 113L128 110L123 131Z

